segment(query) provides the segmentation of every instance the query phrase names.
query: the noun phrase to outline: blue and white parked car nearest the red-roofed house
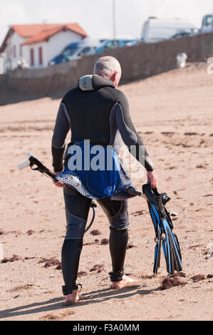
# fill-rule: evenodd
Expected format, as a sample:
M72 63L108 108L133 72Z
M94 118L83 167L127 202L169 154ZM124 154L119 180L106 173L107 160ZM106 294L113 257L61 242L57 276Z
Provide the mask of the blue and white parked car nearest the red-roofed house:
M95 53L95 48L100 44L99 40L85 39L82 42L73 42L68 44L58 56L49 61L48 65L66 63L72 59L79 58L82 55Z

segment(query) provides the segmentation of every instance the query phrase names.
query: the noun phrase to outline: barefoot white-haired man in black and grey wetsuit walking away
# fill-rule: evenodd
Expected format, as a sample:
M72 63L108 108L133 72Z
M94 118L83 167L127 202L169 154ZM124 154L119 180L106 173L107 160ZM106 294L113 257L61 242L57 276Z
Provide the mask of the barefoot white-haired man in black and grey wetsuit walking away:
M147 170L147 182L152 188L157 187L154 165L145 146L137 134L124 93L117 89L121 68L117 59L105 56L95 63L94 74L80 78L78 87L71 89L61 100L56 125L52 138L53 169L57 174L68 165L68 148L74 143L90 140L95 145L110 145L119 153L120 135L125 145ZM65 140L71 129L71 143L64 155ZM64 155L64 164L63 164ZM66 237L61 252L64 279L64 305L75 304L83 299L78 294L76 278L80 252L83 246L83 234L88 219L91 199L79 192L54 182L63 187L66 205ZM112 272L110 280L115 289L135 284L133 279L123 273L125 252L128 245L128 200L98 200L110 222L110 255Z

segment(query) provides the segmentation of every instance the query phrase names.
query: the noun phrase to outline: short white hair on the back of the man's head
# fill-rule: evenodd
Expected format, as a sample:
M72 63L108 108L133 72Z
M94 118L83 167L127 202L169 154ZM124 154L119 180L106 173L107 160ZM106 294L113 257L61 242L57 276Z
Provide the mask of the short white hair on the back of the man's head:
M121 76L120 63L115 57L105 56L98 58L95 62L94 73L99 76L110 79L115 71L117 71Z

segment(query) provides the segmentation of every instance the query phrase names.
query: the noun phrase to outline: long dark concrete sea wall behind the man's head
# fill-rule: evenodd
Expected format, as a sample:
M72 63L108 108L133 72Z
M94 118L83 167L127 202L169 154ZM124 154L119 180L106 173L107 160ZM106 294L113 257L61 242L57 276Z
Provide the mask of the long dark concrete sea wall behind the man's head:
M177 38L160 43L111 49L49 68L16 70L0 76L0 104L41 96L63 96L80 76L93 73L96 59L104 54L118 58L123 68L121 83L135 81L176 68L177 53L186 52L187 61L204 61L213 56L213 33Z

